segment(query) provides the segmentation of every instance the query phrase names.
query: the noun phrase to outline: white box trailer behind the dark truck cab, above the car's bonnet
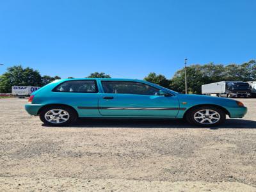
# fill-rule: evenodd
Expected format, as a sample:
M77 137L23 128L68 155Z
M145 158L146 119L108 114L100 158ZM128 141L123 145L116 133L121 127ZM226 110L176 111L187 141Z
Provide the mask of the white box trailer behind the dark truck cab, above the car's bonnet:
M217 96L227 96L226 93L226 81L220 81L216 83L209 83L202 85L203 95L216 94Z

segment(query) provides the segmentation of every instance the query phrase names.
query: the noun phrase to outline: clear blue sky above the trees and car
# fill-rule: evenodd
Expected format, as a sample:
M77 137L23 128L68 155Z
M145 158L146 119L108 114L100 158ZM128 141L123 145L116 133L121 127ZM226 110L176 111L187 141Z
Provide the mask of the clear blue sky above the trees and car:
M254 0L0 0L0 74L171 78L188 65L256 59Z

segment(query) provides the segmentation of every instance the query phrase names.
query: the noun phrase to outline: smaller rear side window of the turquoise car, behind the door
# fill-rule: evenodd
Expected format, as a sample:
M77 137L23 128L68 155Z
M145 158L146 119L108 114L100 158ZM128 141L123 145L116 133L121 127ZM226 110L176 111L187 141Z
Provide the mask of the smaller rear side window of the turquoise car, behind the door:
M97 93L97 84L94 80L65 81L52 90L53 92Z

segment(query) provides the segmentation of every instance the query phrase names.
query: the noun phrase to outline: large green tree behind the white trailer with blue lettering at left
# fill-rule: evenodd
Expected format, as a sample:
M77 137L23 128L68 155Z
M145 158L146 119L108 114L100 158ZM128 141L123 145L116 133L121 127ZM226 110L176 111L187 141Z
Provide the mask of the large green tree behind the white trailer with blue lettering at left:
M0 92L12 92L12 86L40 86L42 79L38 70L23 68L16 65L7 68L7 72L0 76Z

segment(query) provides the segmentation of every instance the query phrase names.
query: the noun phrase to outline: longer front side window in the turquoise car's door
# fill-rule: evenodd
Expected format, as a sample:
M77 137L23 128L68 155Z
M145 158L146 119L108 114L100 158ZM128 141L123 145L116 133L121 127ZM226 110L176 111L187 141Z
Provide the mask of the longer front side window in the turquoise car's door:
M105 93L157 95L159 89L133 81L101 81Z

